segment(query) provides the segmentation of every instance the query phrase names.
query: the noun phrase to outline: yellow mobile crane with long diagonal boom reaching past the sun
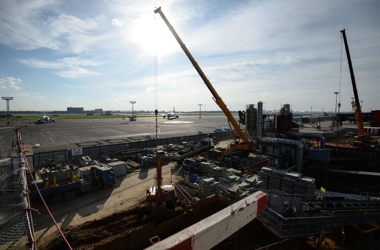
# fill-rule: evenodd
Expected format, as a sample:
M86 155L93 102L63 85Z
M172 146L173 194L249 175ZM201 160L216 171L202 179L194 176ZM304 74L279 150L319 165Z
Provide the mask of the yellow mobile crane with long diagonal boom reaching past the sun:
M178 44L181 46L182 50L185 52L191 63L193 64L194 68L197 70L199 76L202 78L204 83L206 84L207 88L210 90L211 94L213 94L213 100L217 103L217 105L220 107L220 109L223 111L224 115L227 117L227 121L229 126L234 128L231 129L232 136L234 139L234 142L231 142L230 149L232 150L256 150L256 142L248 140L247 136L244 134L244 132L241 130L239 125L237 124L235 118L232 116L231 112L228 110L227 106L221 100L219 95L217 94L217 91L214 89L213 85L211 85L209 79L207 79L205 73L203 73L201 67L199 67L198 63L195 61L194 57L191 55L190 51L186 48L186 46L183 44L181 39L179 38L177 32L175 32L173 26L169 23L169 21L166 19L165 15L161 11L161 7L155 9L155 13L159 13L160 16L163 18L163 21L166 23L167 27L173 34L175 40L177 40ZM241 141L238 141L235 131L239 135Z

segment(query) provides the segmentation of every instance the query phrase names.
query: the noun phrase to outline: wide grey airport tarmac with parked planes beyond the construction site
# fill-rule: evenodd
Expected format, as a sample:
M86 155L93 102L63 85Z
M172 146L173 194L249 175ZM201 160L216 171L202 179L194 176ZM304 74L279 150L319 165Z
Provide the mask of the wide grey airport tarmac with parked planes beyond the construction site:
M235 117L238 119L237 117ZM198 134L199 130L214 133L216 127L228 127L224 116L180 116L179 119L157 118L158 138ZM24 144L33 151L59 150L90 145L108 145L121 141L133 142L156 137L155 117L137 117L136 121L121 118L56 119L51 123L14 121L0 127L0 135L12 137L15 128L22 131ZM244 127L242 125L242 127Z

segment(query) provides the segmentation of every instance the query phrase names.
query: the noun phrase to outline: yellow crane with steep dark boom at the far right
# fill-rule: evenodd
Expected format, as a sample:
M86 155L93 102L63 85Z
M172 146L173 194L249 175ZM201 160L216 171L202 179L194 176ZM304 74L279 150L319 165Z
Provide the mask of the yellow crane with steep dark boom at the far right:
M350 50L348 49L346 29L343 29L340 32L342 33L342 36L343 36L344 46L345 46L346 54L347 54L348 67L350 69L352 88L354 90L354 100L351 101L351 104L352 104L353 110L355 111L356 128L358 129L358 134L359 134L359 135L354 137L354 140L364 142L364 143L368 143L371 141L378 141L379 142L379 137L369 136L368 134L365 133L364 125L363 125L362 109L360 106L358 90L356 88L354 69L352 67Z

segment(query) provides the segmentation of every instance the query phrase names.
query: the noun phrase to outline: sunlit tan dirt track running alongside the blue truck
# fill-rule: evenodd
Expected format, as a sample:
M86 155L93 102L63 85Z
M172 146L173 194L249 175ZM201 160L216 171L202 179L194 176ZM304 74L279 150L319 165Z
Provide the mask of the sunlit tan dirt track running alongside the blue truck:
M175 164L163 165L163 183L170 182L170 176L176 172ZM89 221L100 221L107 216L123 213L139 204L146 196L146 188L154 185L156 169L141 171L127 176L117 177L113 188L100 189L76 196L73 200L63 201L53 205L48 203L55 220L61 229L77 227ZM180 173L181 174L181 173ZM173 176L174 179L179 178ZM40 245L58 235L48 212L41 201L36 201L32 207L38 209L41 216L33 214L35 237Z

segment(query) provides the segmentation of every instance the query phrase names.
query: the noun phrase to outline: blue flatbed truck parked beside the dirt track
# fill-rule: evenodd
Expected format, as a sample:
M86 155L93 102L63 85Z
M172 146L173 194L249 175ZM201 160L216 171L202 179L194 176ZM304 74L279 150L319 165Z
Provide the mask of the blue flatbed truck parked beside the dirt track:
M37 180L36 183L44 198L58 204L63 200L74 199L76 194L110 188L116 183L116 175L111 167L94 166L86 170L83 179L79 179L77 170L70 170L70 176L67 178L56 180L55 176L50 176L45 180ZM33 183L28 188L31 200L40 197Z

